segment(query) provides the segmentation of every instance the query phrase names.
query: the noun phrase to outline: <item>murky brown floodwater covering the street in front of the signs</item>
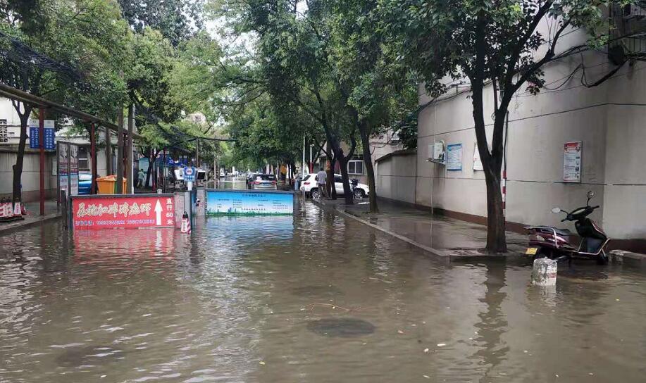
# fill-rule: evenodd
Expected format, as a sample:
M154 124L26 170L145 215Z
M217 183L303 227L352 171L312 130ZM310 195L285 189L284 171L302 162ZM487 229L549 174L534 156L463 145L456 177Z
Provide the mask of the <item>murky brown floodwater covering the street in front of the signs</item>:
M447 264L307 205L0 237L0 382L644 382L646 278Z

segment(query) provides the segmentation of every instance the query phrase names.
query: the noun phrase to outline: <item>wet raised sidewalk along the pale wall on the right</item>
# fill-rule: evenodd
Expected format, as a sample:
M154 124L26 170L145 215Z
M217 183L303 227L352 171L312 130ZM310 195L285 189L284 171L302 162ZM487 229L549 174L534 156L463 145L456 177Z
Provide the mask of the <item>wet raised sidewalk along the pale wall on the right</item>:
M368 213L368 201L346 205L343 199L313 201L323 208L359 220L366 225L406 241L436 256L452 260L471 258L504 258L521 256L527 248L527 237L507 232L506 254L485 253L487 228L471 222L431 215L429 211L404 203L379 199L380 213Z

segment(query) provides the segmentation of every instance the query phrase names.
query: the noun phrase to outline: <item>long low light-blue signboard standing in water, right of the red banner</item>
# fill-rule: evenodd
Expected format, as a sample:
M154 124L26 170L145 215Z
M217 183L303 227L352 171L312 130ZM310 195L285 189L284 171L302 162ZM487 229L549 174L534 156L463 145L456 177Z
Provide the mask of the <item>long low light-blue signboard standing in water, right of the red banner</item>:
M206 214L289 215L294 213L292 192L206 190Z

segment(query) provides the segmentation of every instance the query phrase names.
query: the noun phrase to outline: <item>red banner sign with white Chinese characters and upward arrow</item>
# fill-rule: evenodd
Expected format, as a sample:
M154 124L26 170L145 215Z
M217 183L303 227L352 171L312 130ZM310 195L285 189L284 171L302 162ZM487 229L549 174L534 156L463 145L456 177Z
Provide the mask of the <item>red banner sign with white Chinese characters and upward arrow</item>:
M112 227L174 227L175 199L168 195L76 196L72 199L74 229Z

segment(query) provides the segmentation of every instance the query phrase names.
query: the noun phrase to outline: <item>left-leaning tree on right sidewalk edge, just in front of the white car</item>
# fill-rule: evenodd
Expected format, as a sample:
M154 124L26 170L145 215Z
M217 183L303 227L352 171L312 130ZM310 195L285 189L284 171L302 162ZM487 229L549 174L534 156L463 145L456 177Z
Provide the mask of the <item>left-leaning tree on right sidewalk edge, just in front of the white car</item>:
M291 108L308 114L325 132L326 142L340 163L346 203L353 203L347 161L356 149L356 125L347 113L347 96L340 92L326 56L329 13L301 15L296 3L231 1L225 9L240 14L238 31L257 34L256 63L273 103L282 111ZM347 152L342 142L350 144Z

